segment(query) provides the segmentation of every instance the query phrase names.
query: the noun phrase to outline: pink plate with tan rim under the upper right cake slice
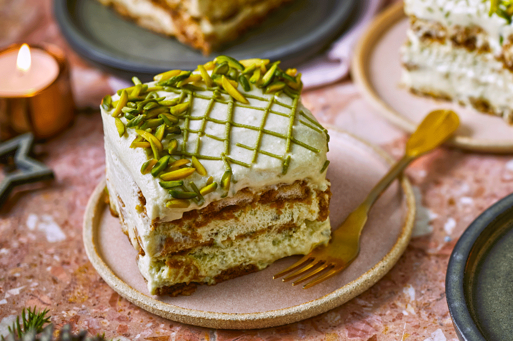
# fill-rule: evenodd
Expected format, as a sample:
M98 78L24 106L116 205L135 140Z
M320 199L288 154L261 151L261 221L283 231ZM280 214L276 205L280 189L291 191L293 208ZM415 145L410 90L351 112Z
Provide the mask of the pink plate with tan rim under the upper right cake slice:
M392 123L408 133L435 109L452 109L461 125L451 143L469 150L513 152L513 126L456 103L412 95L400 87L399 49L406 40L402 3L393 5L370 25L354 52L351 74L363 96Z

